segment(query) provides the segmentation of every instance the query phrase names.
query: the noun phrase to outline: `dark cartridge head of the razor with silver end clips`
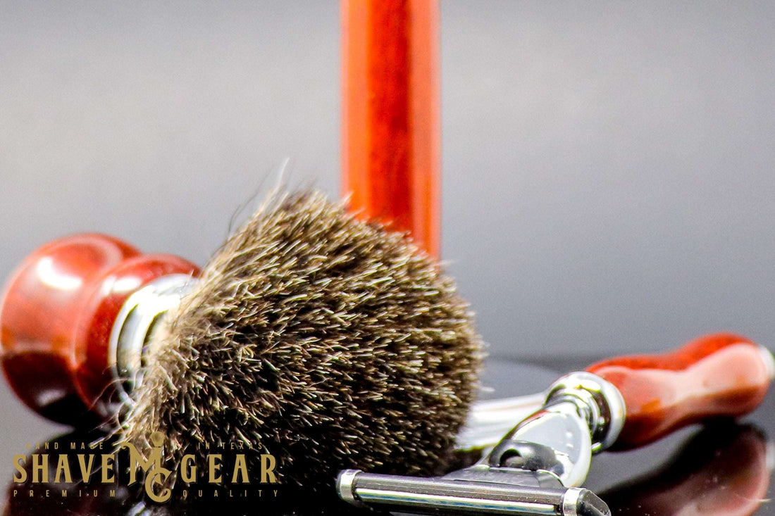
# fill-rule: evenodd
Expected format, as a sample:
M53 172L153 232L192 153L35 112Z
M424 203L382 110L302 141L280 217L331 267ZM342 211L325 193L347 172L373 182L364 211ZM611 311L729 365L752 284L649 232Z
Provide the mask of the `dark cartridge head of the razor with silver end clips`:
M460 476L463 472L467 474ZM608 505L591 490L562 487L553 476L524 470L494 472L474 466L432 478L344 470L336 487L344 501L383 511L611 516Z

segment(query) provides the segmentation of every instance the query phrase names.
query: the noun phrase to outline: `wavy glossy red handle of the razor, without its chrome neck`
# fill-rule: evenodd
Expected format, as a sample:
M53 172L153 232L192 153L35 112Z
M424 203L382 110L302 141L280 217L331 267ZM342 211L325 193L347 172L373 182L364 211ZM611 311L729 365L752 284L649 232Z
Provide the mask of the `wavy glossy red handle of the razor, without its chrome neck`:
M753 411L773 379L773 358L749 339L718 333L670 353L608 359L587 371L625 398L625 426L614 449L627 449L704 418Z

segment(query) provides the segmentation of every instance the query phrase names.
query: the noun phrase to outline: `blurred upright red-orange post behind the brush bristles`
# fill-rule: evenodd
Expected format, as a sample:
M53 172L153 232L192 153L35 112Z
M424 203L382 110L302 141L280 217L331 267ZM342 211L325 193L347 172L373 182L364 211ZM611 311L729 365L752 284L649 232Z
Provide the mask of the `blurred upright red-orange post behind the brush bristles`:
M343 193L439 254L437 0L343 0Z

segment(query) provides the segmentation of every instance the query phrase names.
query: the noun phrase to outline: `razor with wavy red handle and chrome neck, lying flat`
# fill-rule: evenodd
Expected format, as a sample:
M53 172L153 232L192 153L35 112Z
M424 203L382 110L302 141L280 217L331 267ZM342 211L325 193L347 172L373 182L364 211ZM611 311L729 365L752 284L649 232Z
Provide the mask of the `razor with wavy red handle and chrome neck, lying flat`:
M663 355L608 359L557 380L543 407L474 466L431 478L344 470L336 487L350 504L387 511L610 515L580 487L592 455L646 445L704 419L745 415L773 376L767 349L726 333Z

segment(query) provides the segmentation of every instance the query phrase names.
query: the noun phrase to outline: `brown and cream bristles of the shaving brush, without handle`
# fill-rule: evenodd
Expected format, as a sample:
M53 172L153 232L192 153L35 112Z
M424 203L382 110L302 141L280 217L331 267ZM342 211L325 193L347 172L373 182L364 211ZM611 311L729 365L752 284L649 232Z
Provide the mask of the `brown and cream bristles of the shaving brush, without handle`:
M453 280L406 236L319 193L274 198L154 333L123 438L163 432L172 460L244 442L313 489L343 468L431 474L480 349Z

